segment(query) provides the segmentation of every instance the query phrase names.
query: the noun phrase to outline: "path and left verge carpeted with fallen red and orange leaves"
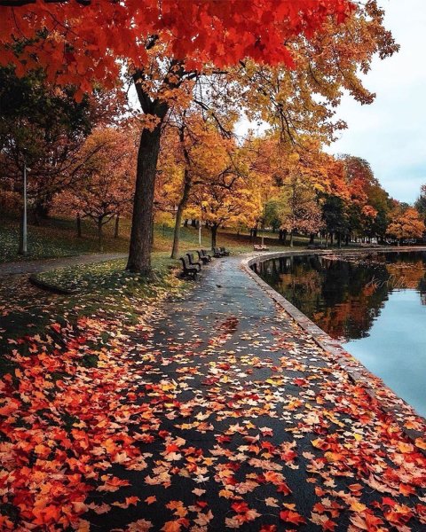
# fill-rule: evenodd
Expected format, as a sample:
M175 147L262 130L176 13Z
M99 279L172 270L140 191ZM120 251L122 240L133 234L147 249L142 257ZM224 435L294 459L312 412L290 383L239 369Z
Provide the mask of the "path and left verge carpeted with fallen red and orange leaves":
M424 439L407 440L240 261L211 264L147 325L108 323L97 367L72 364L105 329L95 317L60 362L20 357L20 394L0 404L4 529L425 529Z

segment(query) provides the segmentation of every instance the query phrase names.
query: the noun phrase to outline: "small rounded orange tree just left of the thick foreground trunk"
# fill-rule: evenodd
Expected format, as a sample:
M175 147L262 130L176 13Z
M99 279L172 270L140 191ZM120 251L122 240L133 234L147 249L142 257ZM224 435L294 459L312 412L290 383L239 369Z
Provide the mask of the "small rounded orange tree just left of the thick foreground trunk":
M103 251L104 225L130 212L135 149L129 131L96 129L82 147L84 163L78 169L78 181L56 199L59 211L75 213L78 220L87 216L96 223L99 251Z

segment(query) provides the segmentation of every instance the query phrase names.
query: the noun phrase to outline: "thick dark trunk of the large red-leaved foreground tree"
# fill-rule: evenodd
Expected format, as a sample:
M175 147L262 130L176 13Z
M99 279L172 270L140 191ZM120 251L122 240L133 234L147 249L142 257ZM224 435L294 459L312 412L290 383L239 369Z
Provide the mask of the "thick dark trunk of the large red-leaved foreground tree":
M149 275L151 272L154 186L160 150L161 122L152 131L149 129L142 131L138 150L136 190L133 202L127 270L138 272L142 275Z

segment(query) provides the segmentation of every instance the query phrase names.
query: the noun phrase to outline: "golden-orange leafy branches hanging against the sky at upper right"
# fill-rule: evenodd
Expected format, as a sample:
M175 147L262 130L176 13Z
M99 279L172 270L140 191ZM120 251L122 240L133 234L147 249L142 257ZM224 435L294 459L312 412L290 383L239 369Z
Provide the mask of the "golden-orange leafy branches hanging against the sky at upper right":
M294 37L288 43L292 69L244 61L237 79L248 117L271 124L283 140L312 133L322 142L334 140L335 132L346 127L335 120L343 90L362 104L371 103L375 94L359 74L367 74L375 54L384 59L398 51L383 28L383 18L377 2L358 3L344 25L336 27L328 19L325 33L315 32L310 39Z

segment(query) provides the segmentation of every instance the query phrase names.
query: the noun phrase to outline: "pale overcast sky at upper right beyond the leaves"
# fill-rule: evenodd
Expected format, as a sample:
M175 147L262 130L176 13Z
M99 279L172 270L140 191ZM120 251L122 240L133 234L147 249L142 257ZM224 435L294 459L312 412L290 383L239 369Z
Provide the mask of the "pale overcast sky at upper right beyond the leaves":
M398 54L375 59L366 77L377 94L371 106L347 97L338 111L348 129L330 147L367 159L384 188L413 202L426 183L426 1L381 0Z

